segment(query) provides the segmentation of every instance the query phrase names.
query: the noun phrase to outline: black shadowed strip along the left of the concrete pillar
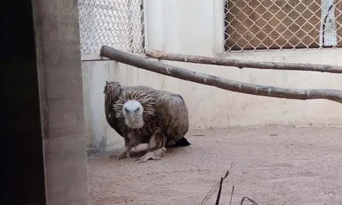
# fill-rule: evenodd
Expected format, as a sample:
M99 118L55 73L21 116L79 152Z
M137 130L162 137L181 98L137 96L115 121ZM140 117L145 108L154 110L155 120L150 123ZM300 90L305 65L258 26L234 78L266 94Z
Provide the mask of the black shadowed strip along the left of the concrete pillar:
M0 204L43 205L43 152L31 1L1 1L0 8Z

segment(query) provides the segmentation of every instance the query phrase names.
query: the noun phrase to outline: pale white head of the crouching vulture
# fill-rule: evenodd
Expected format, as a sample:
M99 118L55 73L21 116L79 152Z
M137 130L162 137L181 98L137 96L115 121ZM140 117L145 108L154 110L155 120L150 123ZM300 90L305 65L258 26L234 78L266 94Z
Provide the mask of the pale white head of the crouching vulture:
M137 129L144 126L144 108L137 100L128 100L122 106L122 113L127 126Z

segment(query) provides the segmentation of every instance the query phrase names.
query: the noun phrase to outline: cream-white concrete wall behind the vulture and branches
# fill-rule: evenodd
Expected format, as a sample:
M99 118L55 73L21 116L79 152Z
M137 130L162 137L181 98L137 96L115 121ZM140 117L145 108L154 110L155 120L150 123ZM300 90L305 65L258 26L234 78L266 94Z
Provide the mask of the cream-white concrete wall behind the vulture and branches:
M149 0L146 26L148 49L227 58L342 66L342 50L258 51L222 53L222 30L216 12L220 1ZM219 7L220 8L220 7ZM232 80L287 88L331 88L342 90L342 76L332 73L238 69L161 61ZM190 113L190 129L272 124L340 126L342 106L328 100L289 100L234 93L187 82L127 66L115 61L83 61L86 126L89 144L105 142L110 150L122 139L109 128L104 117L103 86L106 80L123 85L144 84L184 96ZM87 97L88 96L88 97ZM87 111L88 110L88 111ZM101 133L101 134L100 134ZM102 137L103 136L103 137Z

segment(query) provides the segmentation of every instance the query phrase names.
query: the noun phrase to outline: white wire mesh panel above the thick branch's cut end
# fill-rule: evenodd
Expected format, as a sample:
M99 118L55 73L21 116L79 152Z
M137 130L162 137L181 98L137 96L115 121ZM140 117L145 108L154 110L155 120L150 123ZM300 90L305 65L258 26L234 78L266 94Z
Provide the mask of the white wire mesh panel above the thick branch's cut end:
M98 54L102 45L144 52L143 0L79 0L82 54Z

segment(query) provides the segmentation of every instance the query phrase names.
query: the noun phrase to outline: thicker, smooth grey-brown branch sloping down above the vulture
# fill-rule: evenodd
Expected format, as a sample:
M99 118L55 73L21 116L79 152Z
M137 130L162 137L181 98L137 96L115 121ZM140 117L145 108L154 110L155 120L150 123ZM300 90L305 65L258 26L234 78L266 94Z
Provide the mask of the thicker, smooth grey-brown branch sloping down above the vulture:
M107 57L124 64L142 68L166 76L192 81L195 83L211 85L224 90L251 95L260 95L288 99L328 99L342 103L342 92L329 89L287 89L273 86L262 86L239 81L220 78L176 66L158 63L146 58L136 56L130 53L119 51L109 46L101 47L101 56Z

